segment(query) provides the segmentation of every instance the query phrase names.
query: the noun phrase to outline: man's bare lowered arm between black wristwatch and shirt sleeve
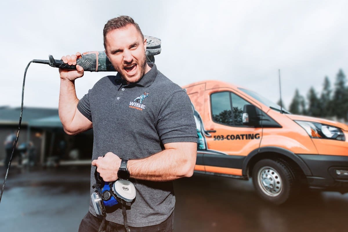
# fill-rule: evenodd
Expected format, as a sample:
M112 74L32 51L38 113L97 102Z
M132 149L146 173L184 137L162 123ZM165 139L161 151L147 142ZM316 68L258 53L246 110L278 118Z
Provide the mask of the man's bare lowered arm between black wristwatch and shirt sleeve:
M181 177L190 177L196 163L196 147L193 149L165 149L150 157L129 160L127 167L130 177L148 181L172 181Z

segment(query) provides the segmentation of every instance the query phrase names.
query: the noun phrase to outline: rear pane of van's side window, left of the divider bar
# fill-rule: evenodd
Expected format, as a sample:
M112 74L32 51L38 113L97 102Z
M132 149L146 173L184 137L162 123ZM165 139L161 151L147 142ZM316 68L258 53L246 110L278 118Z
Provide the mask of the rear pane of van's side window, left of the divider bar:
M229 92L214 93L211 95L212 116L215 122L234 125L231 112L231 98Z

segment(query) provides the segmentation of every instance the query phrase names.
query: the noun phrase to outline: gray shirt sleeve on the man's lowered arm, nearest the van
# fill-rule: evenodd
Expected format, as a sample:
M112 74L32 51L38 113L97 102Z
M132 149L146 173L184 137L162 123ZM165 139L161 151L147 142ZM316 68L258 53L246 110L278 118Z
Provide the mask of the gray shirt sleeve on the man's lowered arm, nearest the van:
M185 91L175 92L161 106L157 119L157 132L163 144L197 143L196 122L190 98Z

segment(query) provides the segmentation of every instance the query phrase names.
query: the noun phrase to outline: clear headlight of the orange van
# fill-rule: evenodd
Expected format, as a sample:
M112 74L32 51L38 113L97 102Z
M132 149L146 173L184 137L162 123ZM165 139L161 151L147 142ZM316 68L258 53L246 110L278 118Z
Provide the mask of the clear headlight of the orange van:
M346 141L342 129L318 122L298 121L295 120L304 130L307 131L311 138L326 138Z

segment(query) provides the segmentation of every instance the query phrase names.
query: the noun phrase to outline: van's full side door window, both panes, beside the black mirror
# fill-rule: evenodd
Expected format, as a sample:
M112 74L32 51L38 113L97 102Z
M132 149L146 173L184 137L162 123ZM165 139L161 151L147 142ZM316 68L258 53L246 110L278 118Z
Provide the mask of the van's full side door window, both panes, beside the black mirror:
M214 93L210 97L215 122L229 126L243 126L243 108L250 103L231 92Z

